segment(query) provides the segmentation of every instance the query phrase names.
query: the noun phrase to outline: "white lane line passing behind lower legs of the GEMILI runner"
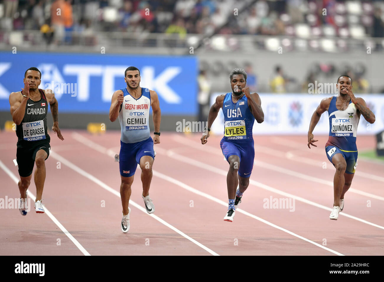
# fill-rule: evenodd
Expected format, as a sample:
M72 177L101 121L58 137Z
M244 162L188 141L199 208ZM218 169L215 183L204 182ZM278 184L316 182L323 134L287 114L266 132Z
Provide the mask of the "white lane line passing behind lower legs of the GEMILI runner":
M97 150L97 149L96 149ZM78 166L74 165L73 163L71 163L70 161L66 160L64 157L60 156L58 153L55 153L53 151L50 152L50 155L51 157L55 158L56 160L58 160L59 162L61 162L62 164L66 165L67 167L71 168L72 170L74 170L75 172L79 173L80 175L88 178L89 180L93 181L94 183L96 183L97 185L101 186L102 188L104 188L105 190L111 192L112 194L118 196L120 198L120 193L116 190L114 190L113 188L111 188L110 186L106 185L103 181L99 180L98 178L94 177L93 175L89 174L88 172L85 172L84 170L82 170L81 168L79 168ZM164 221L163 219L159 218L158 216L154 215L154 214L148 214L147 211L142 207L140 206L139 204L135 203L134 201L132 200L129 200L129 204L131 204L132 206L134 206L135 208L141 210L143 213L149 215L149 216L152 216L152 218L156 219L157 221L159 221L160 223L164 224L165 226L167 226L168 228L172 229L173 231L179 233L181 236L185 237L186 239L188 239L189 241L193 242L194 244L196 244L197 246L201 247L202 249L204 249L205 251L209 252L210 254L214 255L214 256L219 256L219 254L217 254L216 252L212 251L211 249L209 249L208 247L205 247L203 244L197 242L195 239L192 239L191 237L189 237L187 234L181 232L179 229L175 228L174 226L170 225L169 223L167 223L166 221Z

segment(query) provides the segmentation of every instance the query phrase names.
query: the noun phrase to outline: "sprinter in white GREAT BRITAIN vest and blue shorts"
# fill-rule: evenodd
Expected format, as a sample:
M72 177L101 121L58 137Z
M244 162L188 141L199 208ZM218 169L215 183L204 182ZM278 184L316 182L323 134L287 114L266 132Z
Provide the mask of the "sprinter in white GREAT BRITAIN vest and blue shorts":
M141 168L142 198L147 213L155 211L152 199L149 198L149 186L151 185L152 165L156 154L153 145L160 143L161 111L156 92L140 87L139 69L129 67L124 75L127 87L113 93L111 108L109 109L109 120L114 122L119 118L121 125L119 154L120 196L123 215L121 231L127 233L131 214L128 204L137 164ZM149 107L152 107L152 118L155 127L153 140L149 132Z

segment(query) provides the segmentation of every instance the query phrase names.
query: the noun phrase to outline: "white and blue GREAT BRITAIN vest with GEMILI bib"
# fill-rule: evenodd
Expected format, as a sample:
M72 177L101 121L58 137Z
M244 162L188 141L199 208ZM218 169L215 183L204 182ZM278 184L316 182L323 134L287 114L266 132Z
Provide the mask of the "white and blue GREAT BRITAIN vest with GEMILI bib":
M121 89L124 101L119 112L121 141L136 143L151 137L149 130L149 107L151 95L148 88L141 88L141 96L135 99L126 88Z

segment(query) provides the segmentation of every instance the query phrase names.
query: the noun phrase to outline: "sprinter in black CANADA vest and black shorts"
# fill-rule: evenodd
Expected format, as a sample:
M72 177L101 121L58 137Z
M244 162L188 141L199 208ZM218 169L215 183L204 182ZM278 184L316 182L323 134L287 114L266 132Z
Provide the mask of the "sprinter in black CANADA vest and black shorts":
M17 153L20 181L20 213L25 216L26 191L31 183L33 166L36 163L36 213L44 213L41 196L45 182L45 160L49 156L50 136L48 135L47 113L48 103L53 117L52 130L59 139L64 140L58 124L58 104L55 94L50 89L39 89L41 72L37 68L29 68L24 75L24 88L12 92L9 96L11 114L16 126Z

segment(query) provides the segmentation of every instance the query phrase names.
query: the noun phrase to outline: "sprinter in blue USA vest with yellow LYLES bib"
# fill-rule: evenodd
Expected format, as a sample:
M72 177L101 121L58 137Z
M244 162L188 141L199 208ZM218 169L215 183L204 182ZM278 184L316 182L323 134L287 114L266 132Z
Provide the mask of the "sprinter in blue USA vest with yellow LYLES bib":
M205 135L201 143L207 143L210 127L217 117L218 111L223 110L224 137L220 142L224 157L229 163L227 175L228 211L224 221L233 221L235 209L241 202L242 195L249 184L253 168L255 149L253 147L252 127L255 119L258 123L264 121L261 100L257 93L250 93L245 87L247 73L244 69L234 69L230 74L232 92L217 96L212 105ZM238 190L236 187L238 185Z

